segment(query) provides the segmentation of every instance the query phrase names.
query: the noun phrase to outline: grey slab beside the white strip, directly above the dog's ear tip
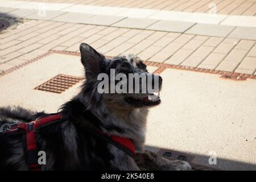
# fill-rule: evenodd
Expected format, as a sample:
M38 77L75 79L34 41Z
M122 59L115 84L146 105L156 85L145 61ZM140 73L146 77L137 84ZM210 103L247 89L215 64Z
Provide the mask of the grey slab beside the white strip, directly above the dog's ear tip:
M84 21L94 15L92 14L85 14L85 13L66 13L52 20L58 22L69 22L69 23L84 23Z

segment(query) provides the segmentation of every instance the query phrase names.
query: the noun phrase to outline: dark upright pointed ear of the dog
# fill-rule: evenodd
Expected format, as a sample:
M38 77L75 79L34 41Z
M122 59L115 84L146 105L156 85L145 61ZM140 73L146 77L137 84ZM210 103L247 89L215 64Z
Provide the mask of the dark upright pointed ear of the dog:
M80 44L80 52L81 62L82 65L84 65L86 77L89 78L97 76L100 64L103 62L105 57L85 43Z

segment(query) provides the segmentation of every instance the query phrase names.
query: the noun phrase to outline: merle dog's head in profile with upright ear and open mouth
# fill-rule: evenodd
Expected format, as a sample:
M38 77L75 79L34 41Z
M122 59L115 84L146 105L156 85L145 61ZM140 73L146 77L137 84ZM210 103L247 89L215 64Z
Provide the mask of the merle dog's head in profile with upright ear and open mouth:
M146 65L135 55L107 59L88 44L80 45L85 68L83 93L90 102L102 100L119 109L160 104L162 77L148 73Z

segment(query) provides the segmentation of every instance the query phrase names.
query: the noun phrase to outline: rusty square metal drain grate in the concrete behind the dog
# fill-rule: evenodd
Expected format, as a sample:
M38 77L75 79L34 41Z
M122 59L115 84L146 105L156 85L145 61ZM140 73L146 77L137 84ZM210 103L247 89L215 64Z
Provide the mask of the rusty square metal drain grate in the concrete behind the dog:
M44 82L42 85L39 85L35 88L35 90L43 90L46 92L53 93L62 93L65 90L71 88L73 85L80 82L83 78L69 75L57 75L51 80Z

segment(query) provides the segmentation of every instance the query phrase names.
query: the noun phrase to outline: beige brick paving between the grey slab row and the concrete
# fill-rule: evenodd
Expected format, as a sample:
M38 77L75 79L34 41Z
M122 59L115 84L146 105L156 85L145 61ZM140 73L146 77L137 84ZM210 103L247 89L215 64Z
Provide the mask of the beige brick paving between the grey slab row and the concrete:
M256 69L254 40L36 20L0 34L0 72L51 49L78 52L81 42L106 56L134 53L145 61L247 74Z

